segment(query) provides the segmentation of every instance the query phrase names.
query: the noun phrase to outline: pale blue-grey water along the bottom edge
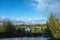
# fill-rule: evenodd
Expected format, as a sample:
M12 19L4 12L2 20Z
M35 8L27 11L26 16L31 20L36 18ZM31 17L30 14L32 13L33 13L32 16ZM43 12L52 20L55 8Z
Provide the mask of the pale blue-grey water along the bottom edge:
M48 40L45 37L0 38L0 40Z

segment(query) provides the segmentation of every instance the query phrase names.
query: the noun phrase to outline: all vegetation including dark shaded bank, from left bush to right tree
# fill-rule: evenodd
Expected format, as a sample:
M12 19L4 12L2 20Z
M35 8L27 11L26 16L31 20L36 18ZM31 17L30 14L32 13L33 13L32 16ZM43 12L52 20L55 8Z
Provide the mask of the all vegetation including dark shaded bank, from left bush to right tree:
M30 33L26 34L25 28L29 26ZM10 21L4 21L0 24L0 37L16 37L16 36L50 36L52 38L60 38L60 19L51 14L46 20L46 24L35 25L13 25Z

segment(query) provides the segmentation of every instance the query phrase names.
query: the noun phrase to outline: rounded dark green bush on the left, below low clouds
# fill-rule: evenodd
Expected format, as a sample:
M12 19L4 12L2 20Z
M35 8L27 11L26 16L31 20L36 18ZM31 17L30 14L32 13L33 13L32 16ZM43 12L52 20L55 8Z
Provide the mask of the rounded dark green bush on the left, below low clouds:
M2 27L4 29L4 32L9 32L9 33L13 32L15 29L10 21L4 21Z

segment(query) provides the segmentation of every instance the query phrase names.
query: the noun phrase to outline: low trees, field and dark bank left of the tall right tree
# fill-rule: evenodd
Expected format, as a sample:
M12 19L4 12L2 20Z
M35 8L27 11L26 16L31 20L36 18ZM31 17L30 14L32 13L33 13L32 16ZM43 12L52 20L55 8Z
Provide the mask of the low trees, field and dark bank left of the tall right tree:
M26 33L25 28L29 27L31 30ZM35 25L13 25L10 21L4 21L0 24L0 38L5 37L38 37L42 36L45 32L46 26L35 24ZM46 34L45 34L46 35Z

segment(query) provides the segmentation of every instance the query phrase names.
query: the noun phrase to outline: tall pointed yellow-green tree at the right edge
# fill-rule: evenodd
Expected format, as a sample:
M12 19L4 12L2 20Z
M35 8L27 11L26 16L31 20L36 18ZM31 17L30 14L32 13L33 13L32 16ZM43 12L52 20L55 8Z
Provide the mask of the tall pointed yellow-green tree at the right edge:
M46 22L54 38L60 38L60 20L52 13Z

